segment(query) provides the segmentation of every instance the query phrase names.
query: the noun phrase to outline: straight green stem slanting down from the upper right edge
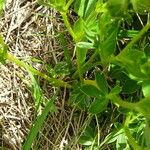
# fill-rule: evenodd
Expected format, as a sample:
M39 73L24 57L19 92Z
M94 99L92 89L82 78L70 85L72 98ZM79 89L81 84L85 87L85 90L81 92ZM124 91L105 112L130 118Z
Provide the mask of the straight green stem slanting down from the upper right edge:
M135 44L150 28L150 22L148 22L143 29L132 39L132 41L116 56L120 58L127 50L129 50L133 44Z

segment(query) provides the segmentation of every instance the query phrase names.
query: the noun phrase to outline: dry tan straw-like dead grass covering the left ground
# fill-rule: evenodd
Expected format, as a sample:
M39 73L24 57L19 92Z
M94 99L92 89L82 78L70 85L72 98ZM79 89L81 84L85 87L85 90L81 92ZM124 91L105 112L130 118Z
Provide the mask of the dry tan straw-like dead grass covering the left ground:
M35 68L44 71L41 64L31 61L32 57L50 64L63 58L63 50L57 41L57 34L64 32L62 28L54 10L39 6L34 0L6 0L0 32L9 51ZM68 47L72 47L72 43ZM7 65L0 66L0 142L6 149L21 149L35 118L34 100L25 84L29 81L27 72L16 65L7 62ZM54 88L45 81L41 87L45 96L50 97ZM82 127L85 114L76 116L74 109L66 106L65 99L64 89L56 103L58 112L48 117L34 143L35 149L37 145L43 150L63 149L63 145ZM75 145L73 149L80 149L80 146Z

